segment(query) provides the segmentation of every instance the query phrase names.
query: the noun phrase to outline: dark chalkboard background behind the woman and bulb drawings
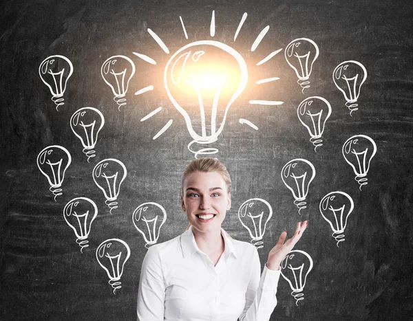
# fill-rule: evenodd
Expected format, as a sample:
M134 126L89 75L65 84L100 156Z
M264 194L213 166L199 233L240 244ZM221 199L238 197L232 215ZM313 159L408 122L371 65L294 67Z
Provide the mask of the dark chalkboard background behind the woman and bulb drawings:
M159 241L182 233L187 219L180 209L180 179L193 159L184 119L162 87L162 68L169 55L148 34L151 28L171 52L209 35L244 56L250 78L215 147L233 179L233 207L224 221L235 239L250 241L237 210L247 199L260 197L273 207L267 225L262 263L283 230L309 219L297 249L313 258L314 267L295 305L281 278L278 305L271 320L407 320L413 309L413 37L411 1L3 1L0 7L0 319L1 320L134 320L142 258L147 249L131 215L141 203L153 201L167 211ZM237 38L233 35L248 13ZM179 16L185 23L184 37ZM251 52L266 25L268 34ZM295 38L310 38L319 58L301 93L284 49ZM255 64L283 48L261 67ZM151 65L132 52L157 61ZM60 54L74 66L67 82L65 104L56 111L49 89L39 77L47 56ZM103 62L125 55L136 65L127 105L120 107L100 76ZM332 71L345 60L366 67L359 110L349 114ZM276 82L257 86L262 78ZM153 85L153 91L134 93ZM297 118L297 106L310 96L322 96L332 106L324 145L314 151L310 136ZM249 100L282 100L281 106L257 106ZM80 140L70 129L70 117L82 107L105 116L96 157L87 162ZM160 113L140 119L154 109ZM240 124L245 118L258 131ZM172 126L153 136L169 120ZM341 146L352 135L368 135L377 144L368 185L359 190ZM63 181L63 195L53 199L47 179L36 166L39 152L65 146L72 164ZM120 188L118 208L109 214L103 193L92 179L102 159L120 159L128 175ZM290 159L312 162L317 175L301 216L280 173ZM319 212L328 192L341 190L354 199L346 241L336 246ZM74 232L63 219L65 204L89 197L98 206L89 247L80 252ZM96 261L96 248L106 239L128 243L131 256L112 292L107 274Z

